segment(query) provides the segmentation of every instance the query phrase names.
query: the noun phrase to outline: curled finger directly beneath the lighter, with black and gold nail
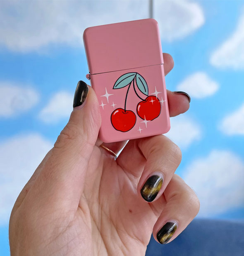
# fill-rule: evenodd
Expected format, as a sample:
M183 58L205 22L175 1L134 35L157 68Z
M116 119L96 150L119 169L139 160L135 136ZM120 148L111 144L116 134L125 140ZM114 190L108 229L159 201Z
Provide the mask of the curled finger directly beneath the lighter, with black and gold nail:
M146 165L137 191L144 200L152 202L163 194L182 155L179 147L164 135L140 140L138 146L146 158Z

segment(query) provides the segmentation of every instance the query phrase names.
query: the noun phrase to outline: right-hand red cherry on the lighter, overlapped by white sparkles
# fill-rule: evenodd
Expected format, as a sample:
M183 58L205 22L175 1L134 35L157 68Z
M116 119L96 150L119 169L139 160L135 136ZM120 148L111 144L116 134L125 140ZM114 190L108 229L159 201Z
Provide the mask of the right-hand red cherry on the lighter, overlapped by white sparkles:
M151 121L160 115L160 101L156 96L148 96L146 100L138 103L136 111L139 117Z

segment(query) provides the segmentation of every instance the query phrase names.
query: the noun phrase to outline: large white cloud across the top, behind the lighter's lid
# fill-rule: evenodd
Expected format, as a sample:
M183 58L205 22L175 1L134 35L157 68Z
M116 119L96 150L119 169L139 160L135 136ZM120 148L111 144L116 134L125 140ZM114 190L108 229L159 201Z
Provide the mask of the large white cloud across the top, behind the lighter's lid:
M198 3L155 1L162 40L181 39L204 23ZM36 51L49 44L83 46L86 27L148 18L148 1L0 2L0 44ZM13 15L17 13L17 15Z

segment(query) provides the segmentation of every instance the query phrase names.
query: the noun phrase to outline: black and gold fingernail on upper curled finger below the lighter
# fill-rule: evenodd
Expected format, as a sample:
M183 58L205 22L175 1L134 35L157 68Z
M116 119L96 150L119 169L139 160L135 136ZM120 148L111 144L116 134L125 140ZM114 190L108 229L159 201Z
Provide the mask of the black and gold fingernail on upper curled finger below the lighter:
M158 195L163 184L163 178L159 175L149 177L141 188L141 196L147 201L152 202Z

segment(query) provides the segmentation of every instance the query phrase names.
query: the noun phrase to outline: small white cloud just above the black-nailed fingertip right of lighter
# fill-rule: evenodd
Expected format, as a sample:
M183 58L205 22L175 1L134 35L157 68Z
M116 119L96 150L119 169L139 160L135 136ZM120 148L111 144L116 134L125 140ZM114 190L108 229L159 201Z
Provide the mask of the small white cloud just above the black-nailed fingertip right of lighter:
M192 98L204 98L217 92L219 85L204 72L196 72L185 78L177 90L185 91Z

